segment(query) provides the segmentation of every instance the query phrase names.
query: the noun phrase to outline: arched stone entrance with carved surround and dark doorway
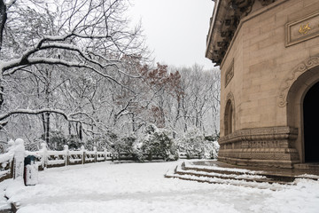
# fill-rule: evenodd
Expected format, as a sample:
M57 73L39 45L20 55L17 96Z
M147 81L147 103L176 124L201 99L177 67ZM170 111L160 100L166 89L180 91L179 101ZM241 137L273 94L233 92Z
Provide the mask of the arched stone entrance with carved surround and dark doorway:
M290 146L298 150L302 163L319 162L319 158L312 153L315 146L318 150L318 143L311 142L315 134L315 130L312 130L312 128L317 125L315 122L319 123L319 115L316 112L319 113L319 106L317 105L319 92L316 89L318 88L318 82L319 57L313 57L292 69L291 75L288 75L282 84L281 91L287 91L286 95L280 92L278 96L279 106L283 108L286 106L287 126L298 129L298 137ZM284 95L281 96L282 94ZM319 128L316 131L319 133ZM319 137L316 136L315 138L318 138L319 142Z

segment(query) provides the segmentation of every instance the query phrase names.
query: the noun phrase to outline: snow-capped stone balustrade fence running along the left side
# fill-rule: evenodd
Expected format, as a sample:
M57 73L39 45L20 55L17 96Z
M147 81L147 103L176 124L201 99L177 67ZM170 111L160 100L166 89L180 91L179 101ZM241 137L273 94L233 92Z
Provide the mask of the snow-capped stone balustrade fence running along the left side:
M63 151L51 151L43 144L41 150L29 152L25 150L22 139L11 140L8 145L8 152L0 154L0 182L4 179L23 177L24 161L27 156L35 157L35 164L39 166L39 170L113 160L110 152L106 150L97 152L96 147L93 151L85 150L84 146L79 151L72 151L68 150L68 146L64 146Z

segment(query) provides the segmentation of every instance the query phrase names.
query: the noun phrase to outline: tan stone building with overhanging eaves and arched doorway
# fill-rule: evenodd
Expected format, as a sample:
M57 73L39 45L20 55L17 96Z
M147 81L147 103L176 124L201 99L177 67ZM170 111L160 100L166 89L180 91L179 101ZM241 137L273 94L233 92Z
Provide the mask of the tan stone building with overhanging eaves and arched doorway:
M215 0L206 58L222 72L221 161L319 162L318 0Z

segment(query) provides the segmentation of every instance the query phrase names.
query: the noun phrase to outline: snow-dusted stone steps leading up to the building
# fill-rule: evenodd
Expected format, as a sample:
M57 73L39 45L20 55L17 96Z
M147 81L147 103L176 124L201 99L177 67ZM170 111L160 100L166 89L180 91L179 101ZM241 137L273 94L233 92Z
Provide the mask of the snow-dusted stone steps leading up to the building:
M209 166L199 165L196 162L183 162L168 170L165 177L180 178L210 184L242 185L257 188L276 190L283 185L294 185L295 178L318 180L319 176L300 175L265 170L239 169L225 163L212 163Z

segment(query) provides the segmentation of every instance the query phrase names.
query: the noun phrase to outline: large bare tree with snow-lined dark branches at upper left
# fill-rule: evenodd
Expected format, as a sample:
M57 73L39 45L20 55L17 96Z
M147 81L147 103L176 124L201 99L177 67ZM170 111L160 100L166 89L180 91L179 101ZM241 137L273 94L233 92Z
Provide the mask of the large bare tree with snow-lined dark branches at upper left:
M47 122L52 113L74 122L89 115L82 109L5 105L12 76L38 75L35 66L93 72L128 89L116 78L119 73L127 75L121 59L141 56L145 50L140 28L128 28L123 18L126 4L126 0L0 0L0 124L13 114L46 114Z

